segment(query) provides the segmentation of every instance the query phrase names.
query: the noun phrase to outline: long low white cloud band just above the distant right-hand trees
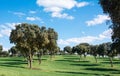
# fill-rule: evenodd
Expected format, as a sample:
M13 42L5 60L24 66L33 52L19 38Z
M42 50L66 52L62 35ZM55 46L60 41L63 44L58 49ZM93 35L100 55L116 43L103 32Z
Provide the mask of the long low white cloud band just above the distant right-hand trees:
M104 39L110 39L112 30L108 29L98 36L84 36L79 38L69 38L66 40L60 39L58 40L59 45L71 45L71 44L79 44L79 43L93 43L95 41L102 41Z

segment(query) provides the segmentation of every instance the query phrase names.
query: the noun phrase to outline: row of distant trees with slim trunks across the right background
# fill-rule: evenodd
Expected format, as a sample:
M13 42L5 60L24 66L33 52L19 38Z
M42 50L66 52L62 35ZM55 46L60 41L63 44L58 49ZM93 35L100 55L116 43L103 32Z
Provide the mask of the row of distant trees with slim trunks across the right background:
M87 55L94 56L96 63L97 63L97 56L99 57L109 57L111 62L111 67L113 67L112 59L113 57L117 56L119 54L118 51L112 50L112 43L102 43L100 45L90 45L88 43L80 43L74 47L66 46L64 47L64 52L67 52L69 54L77 53L81 59L82 55L86 58Z

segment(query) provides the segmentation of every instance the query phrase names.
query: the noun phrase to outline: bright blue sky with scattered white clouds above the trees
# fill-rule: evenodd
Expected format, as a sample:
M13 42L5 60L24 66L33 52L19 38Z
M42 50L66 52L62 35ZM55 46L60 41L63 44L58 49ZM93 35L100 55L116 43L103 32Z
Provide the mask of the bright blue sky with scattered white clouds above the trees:
M75 46L79 43L100 44L111 41L110 18L103 14L98 0L0 0L0 44L4 50L11 29L27 22L54 28L58 45Z

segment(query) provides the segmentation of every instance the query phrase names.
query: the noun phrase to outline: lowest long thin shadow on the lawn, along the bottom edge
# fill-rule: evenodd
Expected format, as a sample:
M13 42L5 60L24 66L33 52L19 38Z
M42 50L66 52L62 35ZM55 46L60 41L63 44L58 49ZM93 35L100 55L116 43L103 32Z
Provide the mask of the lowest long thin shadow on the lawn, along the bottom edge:
M57 73L69 73L69 74L82 74L85 75L95 75L95 76L110 76L109 74L97 74L97 73L85 73L85 72L70 72L70 71L56 71Z

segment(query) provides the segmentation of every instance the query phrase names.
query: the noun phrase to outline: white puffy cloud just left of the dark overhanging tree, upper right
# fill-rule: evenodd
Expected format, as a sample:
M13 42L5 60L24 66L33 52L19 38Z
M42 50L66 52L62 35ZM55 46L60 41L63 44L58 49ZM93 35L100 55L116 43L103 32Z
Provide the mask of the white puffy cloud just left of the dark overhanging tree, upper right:
M86 21L86 24L87 26L95 26L104 23L106 20L110 20L110 17L107 15L97 15L93 20Z

